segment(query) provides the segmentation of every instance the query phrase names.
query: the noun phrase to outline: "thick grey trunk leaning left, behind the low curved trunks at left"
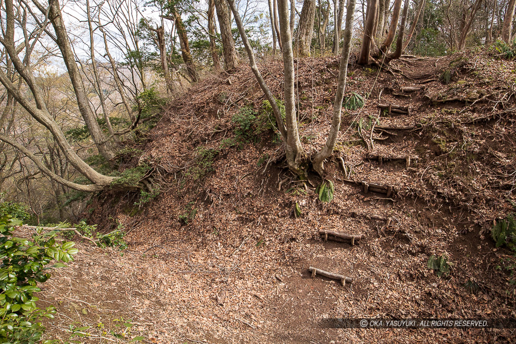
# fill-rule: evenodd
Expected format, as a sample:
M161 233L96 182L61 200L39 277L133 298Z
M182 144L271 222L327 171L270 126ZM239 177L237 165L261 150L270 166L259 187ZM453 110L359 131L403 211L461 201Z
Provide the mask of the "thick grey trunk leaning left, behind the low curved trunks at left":
M62 58L67 67L68 75L72 81L79 112L88 127L91 138L95 142L99 153L108 161L114 160L116 157L115 144L112 140L108 140L104 133L102 133L99 123L96 121L96 117L91 110L83 79L75 63L75 56L70 46L68 32L62 20L59 3L57 0L49 0L49 7L49 19L56 32L56 43L59 46Z

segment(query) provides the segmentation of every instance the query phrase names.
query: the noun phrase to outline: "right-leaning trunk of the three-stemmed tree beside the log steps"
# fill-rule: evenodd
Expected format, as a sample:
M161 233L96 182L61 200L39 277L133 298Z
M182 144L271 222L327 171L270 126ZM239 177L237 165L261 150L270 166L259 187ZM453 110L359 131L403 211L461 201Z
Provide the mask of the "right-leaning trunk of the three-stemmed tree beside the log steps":
M344 93L346 92L346 77L348 72L349 52L351 50L351 37L353 34L355 0L348 0L346 11L346 26L344 30L344 46L342 47L341 63L338 69L338 84L333 102L333 117L328 135L328 140L322 150L312 160L313 167L322 176L324 172L324 161L331 156L335 143L337 142L338 131L341 127L341 112Z

